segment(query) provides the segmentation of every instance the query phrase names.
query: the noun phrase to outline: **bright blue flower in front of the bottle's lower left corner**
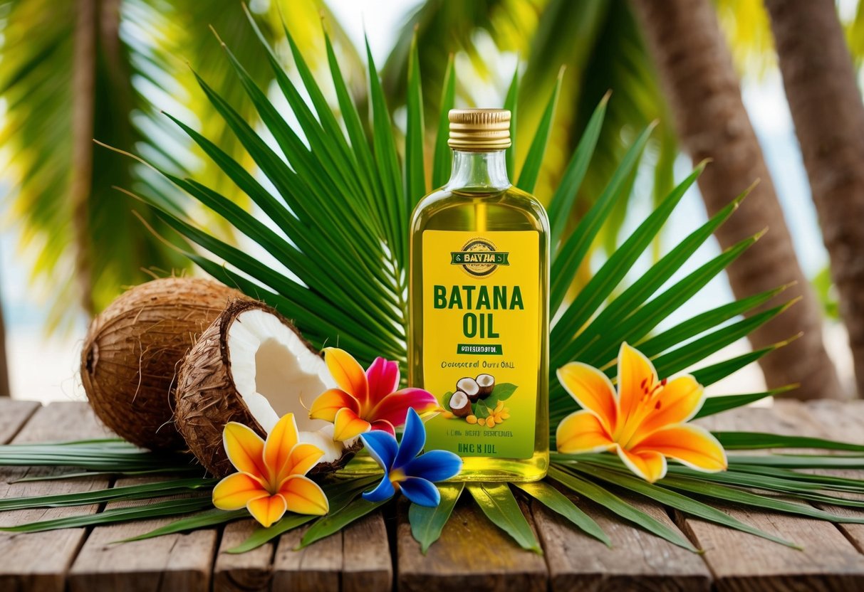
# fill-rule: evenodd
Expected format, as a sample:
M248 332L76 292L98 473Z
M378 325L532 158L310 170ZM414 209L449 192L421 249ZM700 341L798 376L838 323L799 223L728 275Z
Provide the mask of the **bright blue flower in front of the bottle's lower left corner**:
M378 487L364 492L363 498L368 501L390 499L401 489L418 506L435 507L441 502L441 494L432 482L449 479L462 469L462 459L447 450L429 450L417 456L426 444L426 428L414 409L408 410L401 444L386 431L367 431L360 438L384 469Z

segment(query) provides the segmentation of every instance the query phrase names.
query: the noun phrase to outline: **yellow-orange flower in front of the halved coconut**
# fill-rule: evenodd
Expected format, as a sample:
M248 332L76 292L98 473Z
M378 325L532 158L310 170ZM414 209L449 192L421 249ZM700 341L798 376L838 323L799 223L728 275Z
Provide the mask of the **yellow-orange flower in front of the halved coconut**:
M222 510L246 507L264 528L285 512L327 513L327 496L306 476L324 453L313 444L298 442L294 413L279 419L266 442L234 421L225 426L222 441L239 472L213 488L213 506Z

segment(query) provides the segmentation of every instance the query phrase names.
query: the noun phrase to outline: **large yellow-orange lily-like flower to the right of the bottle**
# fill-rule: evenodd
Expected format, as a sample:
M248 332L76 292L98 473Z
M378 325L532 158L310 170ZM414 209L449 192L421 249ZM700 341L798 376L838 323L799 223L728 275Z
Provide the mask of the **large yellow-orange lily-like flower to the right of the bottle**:
M693 376L660 381L647 357L621 343L617 393L607 375L581 362L558 368L558 380L582 407L558 424L559 452L615 450L649 482L666 475L667 458L710 473L727 468L717 439L702 427L686 425L705 400Z

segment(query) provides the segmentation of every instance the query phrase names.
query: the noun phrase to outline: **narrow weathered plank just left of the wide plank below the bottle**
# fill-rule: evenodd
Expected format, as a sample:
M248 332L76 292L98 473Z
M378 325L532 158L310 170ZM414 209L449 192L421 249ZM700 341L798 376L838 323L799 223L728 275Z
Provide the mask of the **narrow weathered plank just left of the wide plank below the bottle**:
M380 512L348 526L342 532L342 541L342 592L393 588L393 559Z

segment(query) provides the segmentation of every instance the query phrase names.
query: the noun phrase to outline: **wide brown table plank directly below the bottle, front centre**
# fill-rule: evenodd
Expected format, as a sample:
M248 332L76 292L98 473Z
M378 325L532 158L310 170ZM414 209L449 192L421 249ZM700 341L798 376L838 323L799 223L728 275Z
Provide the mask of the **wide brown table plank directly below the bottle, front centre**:
M530 519L530 514L529 514ZM530 520L533 527L533 520ZM543 592L549 572L543 557L519 548L463 494L441 538L424 557L411 536L408 505L397 517L397 586L400 592Z

